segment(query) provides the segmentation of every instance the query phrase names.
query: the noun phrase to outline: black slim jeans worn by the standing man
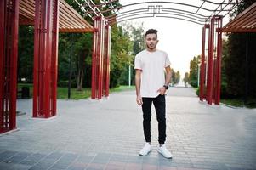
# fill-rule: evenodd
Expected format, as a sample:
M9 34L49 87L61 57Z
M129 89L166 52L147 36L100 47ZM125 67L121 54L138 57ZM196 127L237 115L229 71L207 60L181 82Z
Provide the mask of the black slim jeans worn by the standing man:
M166 139L165 95L159 94L156 98L142 98L143 130L146 142L151 142L151 105L156 109L158 122L158 142L164 144Z

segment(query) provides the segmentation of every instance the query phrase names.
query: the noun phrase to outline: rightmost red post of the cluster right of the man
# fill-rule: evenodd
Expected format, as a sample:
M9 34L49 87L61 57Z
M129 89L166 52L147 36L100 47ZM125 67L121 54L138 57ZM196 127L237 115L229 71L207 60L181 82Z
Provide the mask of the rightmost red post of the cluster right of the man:
M222 16L218 16L218 29L222 28ZM222 56L222 32L217 32L217 81L216 81L216 94L215 105L219 105L220 101L220 87L221 87L221 56Z

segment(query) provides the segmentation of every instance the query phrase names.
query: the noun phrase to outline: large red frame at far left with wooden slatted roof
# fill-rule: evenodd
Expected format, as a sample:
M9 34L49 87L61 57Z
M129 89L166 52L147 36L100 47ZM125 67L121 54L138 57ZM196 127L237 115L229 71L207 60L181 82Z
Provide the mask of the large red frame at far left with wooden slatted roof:
M19 24L35 25L33 117L56 115L59 27L62 32L93 32L64 0L0 1L0 133L16 128Z

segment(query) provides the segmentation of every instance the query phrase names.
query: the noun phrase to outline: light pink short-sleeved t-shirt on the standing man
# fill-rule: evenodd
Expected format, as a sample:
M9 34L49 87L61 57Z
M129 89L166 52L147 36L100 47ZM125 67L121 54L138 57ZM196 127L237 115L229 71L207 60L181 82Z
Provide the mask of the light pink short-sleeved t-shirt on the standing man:
M134 69L142 70L141 97L155 98L160 94L157 90L165 83L164 68L168 65L171 65L168 54L158 49L155 52L145 49L135 56Z

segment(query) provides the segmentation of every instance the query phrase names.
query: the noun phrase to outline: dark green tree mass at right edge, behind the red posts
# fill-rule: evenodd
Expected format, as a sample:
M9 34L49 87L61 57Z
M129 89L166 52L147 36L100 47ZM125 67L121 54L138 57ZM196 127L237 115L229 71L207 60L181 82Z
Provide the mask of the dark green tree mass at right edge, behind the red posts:
M232 14L242 11L253 4L254 0L242 1L237 10ZM224 45L224 73L222 82L225 85L226 97L256 98L256 34L255 33L230 33ZM226 47L225 47L226 46ZM247 57L246 57L246 54Z

